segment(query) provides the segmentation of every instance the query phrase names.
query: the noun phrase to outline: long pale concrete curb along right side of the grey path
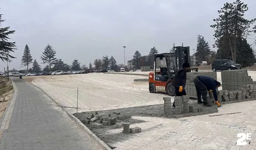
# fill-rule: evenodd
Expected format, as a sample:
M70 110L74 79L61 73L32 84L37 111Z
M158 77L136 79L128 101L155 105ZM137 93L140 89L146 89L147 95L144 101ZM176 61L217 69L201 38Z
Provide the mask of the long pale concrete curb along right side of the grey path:
M25 79L22 79L25 80ZM25 80L26 82L28 82L27 80ZM31 84L32 86L40 89L44 94L46 94L53 102L55 102L57 105L63 106L62 104L60 104L59 102L57 102L54 98L52 98L49 94L47 94L42 88L39 88L38 86L28 82L29 84ZM112 150L105 142L103 142L102 140L100 140L100 138L98 136L96 136L87 126L85 126L78 118L76 118L73 114L71 114L66 108L64 107L60 107L64 112L66 112L66 114L76 123L78 124L79 128L81 128L82 130L84 130L86 132L86 134L88 134L88 136L90 138L92 138L92 140L94 140L94 142L96 142L103 150Z

